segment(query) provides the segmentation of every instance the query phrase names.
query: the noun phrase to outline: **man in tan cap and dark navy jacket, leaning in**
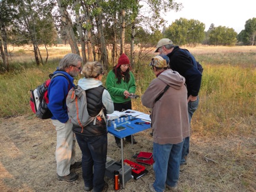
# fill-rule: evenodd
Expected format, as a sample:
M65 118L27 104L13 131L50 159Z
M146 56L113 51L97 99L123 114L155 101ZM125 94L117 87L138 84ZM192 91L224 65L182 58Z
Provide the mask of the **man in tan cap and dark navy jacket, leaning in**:
M187 85L188 119L191 122L193 113L197 110L199 104L198 94L201 86L201 72L197 69L196 60L189 52L181 49L179 46L174 46L169 39L159 40L156 45L156 52L167 55L169 57L169 68L184 76L185 84ZM187 164L189 144L190 137L186 137L181 155L180 171L183 171L184 165Z

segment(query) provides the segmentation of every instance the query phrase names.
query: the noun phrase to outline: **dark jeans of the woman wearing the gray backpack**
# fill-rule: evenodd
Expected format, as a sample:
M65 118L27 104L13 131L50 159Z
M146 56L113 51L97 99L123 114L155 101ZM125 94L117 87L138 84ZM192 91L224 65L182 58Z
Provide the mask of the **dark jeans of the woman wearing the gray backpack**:
M93 187L95 192L102 191L105 185L107 133L90 137L76 134L76 140L82 151L82 177L85 187Z

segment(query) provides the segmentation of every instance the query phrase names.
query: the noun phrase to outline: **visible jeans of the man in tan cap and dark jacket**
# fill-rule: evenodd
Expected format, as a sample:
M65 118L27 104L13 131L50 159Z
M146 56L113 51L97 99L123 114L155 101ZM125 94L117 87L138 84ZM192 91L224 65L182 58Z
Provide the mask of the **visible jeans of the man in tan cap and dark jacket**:
M188 102L188 120L191 123L191 119L193 116L194 111L197 110L197 107L199 105L199 97L197 96L196 101L189 101ZM190 147L190 137L185 137L184 143L183 143L183 152L181 154L181 165L186 163L185 156L189 153L189 147Z

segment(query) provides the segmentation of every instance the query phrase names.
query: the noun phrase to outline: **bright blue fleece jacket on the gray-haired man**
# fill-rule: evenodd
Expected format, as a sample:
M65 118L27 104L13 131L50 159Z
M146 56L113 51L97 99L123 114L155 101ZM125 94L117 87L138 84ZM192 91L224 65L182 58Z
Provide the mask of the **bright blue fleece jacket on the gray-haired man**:
M69 73L65 71L55 71L53 74L62 73L65 76L56 76L50 82L48 87L48 97L49 104L48 108L52 112L53 120L59 120L62 123L66 123L69 120L68 117L68 108L66 106L66 96L68 95L69 90L72 87L75 87L73 84L73 78Z

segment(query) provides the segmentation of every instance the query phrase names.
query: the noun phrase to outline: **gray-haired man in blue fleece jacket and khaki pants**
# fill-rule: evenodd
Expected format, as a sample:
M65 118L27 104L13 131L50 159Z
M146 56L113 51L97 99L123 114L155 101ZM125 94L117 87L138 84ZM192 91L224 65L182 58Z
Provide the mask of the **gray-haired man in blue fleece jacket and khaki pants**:
M81 161L75 162L75 135L72 132L72 123L69 121L66 96L72 87L73 80L81 72L82 57L73 53L65 55L60 60L57 70L53 73L62 73L66 76L56 76L48 88L48 108L52 112L52 123L56 127L56 163L57 179L75 181L78 175L71 172L73 168L81 167Z

